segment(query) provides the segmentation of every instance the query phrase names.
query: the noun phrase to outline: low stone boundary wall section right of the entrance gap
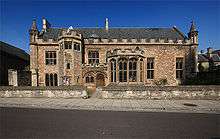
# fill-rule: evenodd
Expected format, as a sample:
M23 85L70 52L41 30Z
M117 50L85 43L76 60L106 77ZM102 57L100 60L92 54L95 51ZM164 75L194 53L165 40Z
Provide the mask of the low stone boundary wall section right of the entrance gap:
M107 86L98 98L220 100L220 86Z

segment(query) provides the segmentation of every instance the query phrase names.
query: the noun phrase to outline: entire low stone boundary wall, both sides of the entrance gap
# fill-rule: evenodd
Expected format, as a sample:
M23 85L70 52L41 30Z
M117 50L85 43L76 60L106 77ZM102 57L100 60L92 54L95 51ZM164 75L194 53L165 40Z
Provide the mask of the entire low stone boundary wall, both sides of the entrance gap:
M0 97L87 97L86 87L0 86ZM210 99L220 100L220 86L114 86L97 88L94 97L115 99Z

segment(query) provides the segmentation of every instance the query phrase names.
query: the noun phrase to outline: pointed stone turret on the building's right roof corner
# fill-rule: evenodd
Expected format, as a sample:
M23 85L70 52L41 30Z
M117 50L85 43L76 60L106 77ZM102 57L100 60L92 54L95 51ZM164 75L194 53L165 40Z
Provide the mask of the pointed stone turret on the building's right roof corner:
M188 38L191 40L191 43L198 44L198 31L196 30L194 21L191 22Z

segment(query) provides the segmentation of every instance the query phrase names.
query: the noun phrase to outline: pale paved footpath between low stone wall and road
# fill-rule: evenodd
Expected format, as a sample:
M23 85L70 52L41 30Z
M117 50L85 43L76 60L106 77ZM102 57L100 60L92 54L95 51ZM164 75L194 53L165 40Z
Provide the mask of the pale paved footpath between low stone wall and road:
M0 98L0 107L220 114L220 101L214 100Z

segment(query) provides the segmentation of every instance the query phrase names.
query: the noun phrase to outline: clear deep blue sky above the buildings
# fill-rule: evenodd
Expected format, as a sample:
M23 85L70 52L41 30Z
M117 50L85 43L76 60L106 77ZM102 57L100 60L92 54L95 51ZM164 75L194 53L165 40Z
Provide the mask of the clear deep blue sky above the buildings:
M28 30L42 17L52 27L173 27L187 35L190 22L199 31L199 50L220 49L220 1L22 1L0 0L0 40L29 52Z

